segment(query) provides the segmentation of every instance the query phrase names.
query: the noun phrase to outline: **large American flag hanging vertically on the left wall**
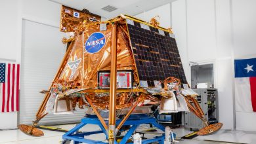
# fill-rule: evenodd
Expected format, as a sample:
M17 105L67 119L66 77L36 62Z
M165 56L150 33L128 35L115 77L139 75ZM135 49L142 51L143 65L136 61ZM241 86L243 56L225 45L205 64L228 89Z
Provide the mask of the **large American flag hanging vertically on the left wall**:
M19 111L20 64L0 63L0 109Z

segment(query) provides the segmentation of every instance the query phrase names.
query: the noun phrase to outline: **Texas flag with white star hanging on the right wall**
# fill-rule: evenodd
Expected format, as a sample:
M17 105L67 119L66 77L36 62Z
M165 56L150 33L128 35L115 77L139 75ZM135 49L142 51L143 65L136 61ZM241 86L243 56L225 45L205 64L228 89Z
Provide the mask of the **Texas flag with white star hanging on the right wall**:
M256 112L256 58L234 60L236 111Z

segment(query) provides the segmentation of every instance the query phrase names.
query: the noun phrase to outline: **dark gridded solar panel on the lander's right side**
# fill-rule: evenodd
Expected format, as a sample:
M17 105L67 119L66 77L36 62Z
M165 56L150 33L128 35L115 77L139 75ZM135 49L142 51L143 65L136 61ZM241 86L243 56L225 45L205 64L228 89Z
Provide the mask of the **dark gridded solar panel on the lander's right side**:
M140 81L155 86L154 81L176 77L187 83L173 34L131 20L127 26Z

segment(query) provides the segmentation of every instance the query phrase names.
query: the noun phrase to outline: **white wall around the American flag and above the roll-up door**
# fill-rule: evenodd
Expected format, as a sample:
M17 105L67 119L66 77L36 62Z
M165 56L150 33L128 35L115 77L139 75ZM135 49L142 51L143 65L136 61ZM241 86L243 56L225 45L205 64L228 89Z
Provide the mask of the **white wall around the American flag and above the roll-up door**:
M22 19L58 27L60 8L48 0L0 1L0 62L21 62ZM18 113L0 113L0 119L0 129L16 128Z

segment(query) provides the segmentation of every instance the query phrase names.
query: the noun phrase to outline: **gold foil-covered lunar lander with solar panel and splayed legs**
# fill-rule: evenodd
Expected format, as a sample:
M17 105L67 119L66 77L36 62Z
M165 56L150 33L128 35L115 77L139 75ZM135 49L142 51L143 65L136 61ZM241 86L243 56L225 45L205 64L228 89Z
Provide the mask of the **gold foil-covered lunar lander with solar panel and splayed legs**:
M205 124L198 135L221 128L221 123L209 125L194 98L197 94L186 82L171 29L160 27L154 18L146 23L127 15L106 22L84 20L73 28L74 37L63 39L70 45L44 91L33 125L22 124L20 130L41 136L35 125L47 113L68 114L88 107L87 115L96 115L109 143L114 143L132 115L152 113L150 105L160 105L160 113L194 113Z

